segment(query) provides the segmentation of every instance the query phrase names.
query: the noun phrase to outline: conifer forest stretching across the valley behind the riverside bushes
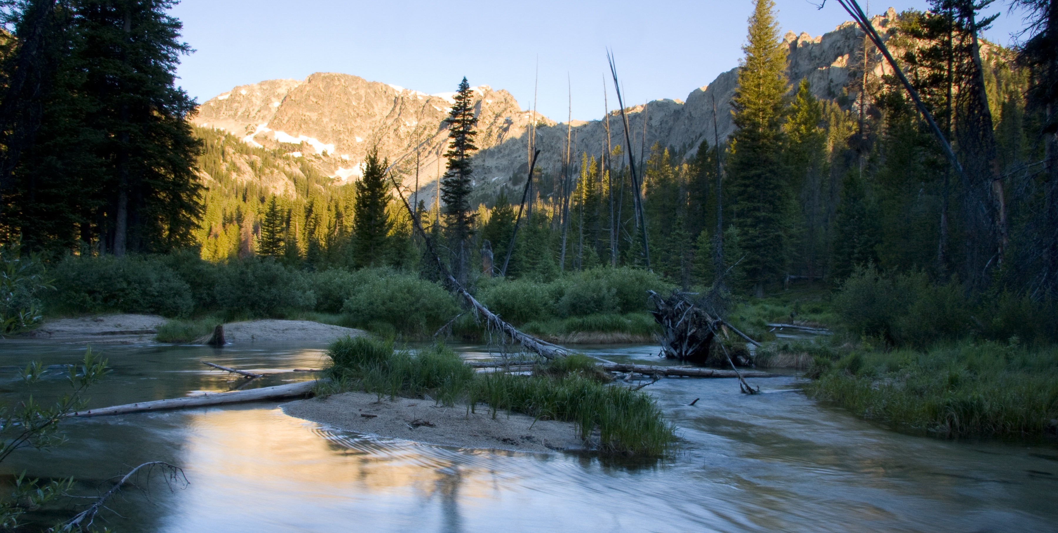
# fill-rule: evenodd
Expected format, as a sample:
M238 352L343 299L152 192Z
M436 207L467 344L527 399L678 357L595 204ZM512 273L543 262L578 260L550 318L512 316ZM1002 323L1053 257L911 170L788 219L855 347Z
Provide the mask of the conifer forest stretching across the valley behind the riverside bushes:
M193 129L194 102L172 74L188 48L169 6L7 4L5 241L20 239L50 262L194 249L208 261L389 266L439 280L418 222L470 286L628 266L683 288L708 287L719 268L729 288L758 296L796 281L839 287L865 269L956 283L968 301L1009 294L1043 309L1058 290L1051 2L1019 4L1033 24L1016 49L983 41L984 5L963 0L905 12L889 30L959 167L897 79L872 74L879 65L865 37L841 94L821 99L807 80L787 79L773 5L760 0L730 139L693 153L632 146L630 158L614 120L605 146L568 154L561 170L537 169L524 206L524 178L471 205L475 121L464 79L445 125L442 202L413 213L401 197L415 197L395 189L401 179L387 173L387 154L372 152L363 178L343 184L321 176L313 155Z

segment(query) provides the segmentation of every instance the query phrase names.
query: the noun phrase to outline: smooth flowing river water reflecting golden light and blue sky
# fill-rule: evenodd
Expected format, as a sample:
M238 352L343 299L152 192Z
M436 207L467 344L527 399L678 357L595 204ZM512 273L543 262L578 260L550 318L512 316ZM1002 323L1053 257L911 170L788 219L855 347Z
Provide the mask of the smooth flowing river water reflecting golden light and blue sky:
M200 361L311 379L320 346L106 346L113 371L91 405L227 390L240 384ZM2 342L0 394L20 398L17 368L53 365L37 398L66 387L75 345ZM463 347L479 357L480 347ZM658 364L656 347L592 347ZM1056 531L1058 448L902 435L822 406L796 376L665 379L643 390L678 426L656 461L455 449L359 435L288 417L277 403L72 420L69 443L23 451L4 473L75 476L97 494L146 461L182 480L141 478L105 513L123 532L262 531ZM260 383L257 383L260 382ZM694 406L694 399L700 399ZM37 513L48 522L63 509Z

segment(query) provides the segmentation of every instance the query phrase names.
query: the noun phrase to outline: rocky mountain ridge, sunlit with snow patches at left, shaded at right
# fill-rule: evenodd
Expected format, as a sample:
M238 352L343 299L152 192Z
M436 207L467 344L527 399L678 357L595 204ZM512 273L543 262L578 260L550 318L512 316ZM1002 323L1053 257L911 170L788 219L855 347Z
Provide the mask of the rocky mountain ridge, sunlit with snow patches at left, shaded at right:
M883 36L895 21L892 7L872 19ZM817 96L845 96L851 103L862 72L863 40L863 32L853 22L815 38L787 33L791 86L807 78ZM868 75L889 73L881 55L869 50ZM704 140L710 145L714 135L725 140L734 131L730 103L736 82L734 68L692 91L686 100L658 99L626 108L634 154L638 159L643 147L649 150L659 143L690 157ZM404 184L414 187L418 182L418 198L432 202L443 171L448 133L443 121L451 97L452 93L430 95L349 74L315 73L304 80L236 87L202 104L193 122L223 129L248 144L281 148L291 158L312 154L321 172L343 181L359 178L367 150L378 146L390 161L402 159ZM535 146L542 150L537 166L545 172L560 171L569 125L522 110L510 93L488 86L474 88L474 109L480 148L474 163L478 198L490 198L512 181L524 180L519 174L528 169L527 133L534 118ZM574 121L572 152L604 150L607 120L610 143L625 145L617 110L598 121Z

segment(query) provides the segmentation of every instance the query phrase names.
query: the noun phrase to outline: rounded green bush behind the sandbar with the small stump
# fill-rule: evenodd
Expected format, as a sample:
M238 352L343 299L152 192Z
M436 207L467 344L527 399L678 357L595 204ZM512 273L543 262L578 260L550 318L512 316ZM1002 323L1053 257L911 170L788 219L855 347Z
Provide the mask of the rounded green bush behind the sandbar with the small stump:
M270 258L226 263L215 294L217 306L229 318L282 318L292 311L311 310L316 302L306 273Z

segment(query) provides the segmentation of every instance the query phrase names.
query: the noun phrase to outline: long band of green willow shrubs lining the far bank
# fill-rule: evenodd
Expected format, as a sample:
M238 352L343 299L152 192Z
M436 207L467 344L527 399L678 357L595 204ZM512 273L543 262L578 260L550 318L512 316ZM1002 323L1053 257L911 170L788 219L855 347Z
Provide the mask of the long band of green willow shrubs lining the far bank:
M44 302L50 314L153 313L196 323L174 326L172 338L204 327L197 324L204 316L233 320L324 315L343 326L421 337L460 311L440 284L390 268L314 272L271 258L214 263L183 252L69 257L49 276L58 289ZM644 323L650 320L642 314L646 291L668 288L646 271L594 269L551 281L482 280L478 296L516 325L647 334L651 327ZM456 326L464 336L479 334L480 325L472 316Z

